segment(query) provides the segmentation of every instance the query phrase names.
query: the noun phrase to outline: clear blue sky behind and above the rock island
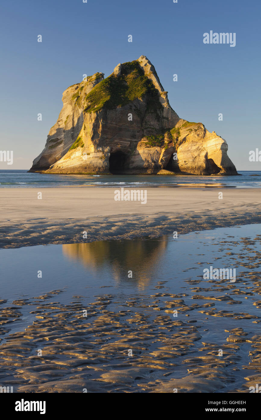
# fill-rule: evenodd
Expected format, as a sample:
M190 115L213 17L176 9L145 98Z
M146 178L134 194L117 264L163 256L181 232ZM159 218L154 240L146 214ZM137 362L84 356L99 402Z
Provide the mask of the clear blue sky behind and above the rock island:
M258 0L5 0L0 150L13 150L14 163L0 163L1 169L31 167L68 86L83 74L109 76L140 55L155 66L181 118L225 138L238 170L261 169L248 159L250 150L261 150L260 16ZM210 30L235 32L236 46L204 45Z

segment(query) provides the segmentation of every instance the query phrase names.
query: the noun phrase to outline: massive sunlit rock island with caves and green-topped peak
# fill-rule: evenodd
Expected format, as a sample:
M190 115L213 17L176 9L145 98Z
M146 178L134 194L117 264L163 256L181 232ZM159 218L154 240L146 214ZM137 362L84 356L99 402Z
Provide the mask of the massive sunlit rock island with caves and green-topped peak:
M72 85L30 171L237 174L226 141L179 118L167 93L143 55Z

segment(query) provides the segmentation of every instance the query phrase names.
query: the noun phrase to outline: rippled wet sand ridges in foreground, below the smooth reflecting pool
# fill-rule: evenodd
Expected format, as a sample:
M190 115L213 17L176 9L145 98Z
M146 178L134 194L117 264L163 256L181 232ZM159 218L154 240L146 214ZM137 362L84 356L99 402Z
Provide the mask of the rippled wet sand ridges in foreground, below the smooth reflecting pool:
M218 241L217 258L237 267L235 283L184 273L178 294L158 281L151 295L128 299L101 288L87 305L80 295L61 304L63 289L11 306L2 299L1 385L18 393L249 392L261 382L261 235L240 244L238 252L233 236ZM24 308L35 321L10 333Z

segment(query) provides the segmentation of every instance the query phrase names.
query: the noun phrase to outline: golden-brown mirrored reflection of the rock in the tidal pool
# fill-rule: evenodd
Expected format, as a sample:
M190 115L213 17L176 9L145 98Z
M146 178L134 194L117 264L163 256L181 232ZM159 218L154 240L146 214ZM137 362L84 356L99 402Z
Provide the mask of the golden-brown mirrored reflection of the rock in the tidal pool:
M160 258L167 246L164 240L98 241L86 244L62 245L67 257L78 260L85 267L96 271L107 268L113 271L117 281L138 281L145 286L155 277ZM128 278L132 270L133 278ZM154 273L154 274L153 274Z

